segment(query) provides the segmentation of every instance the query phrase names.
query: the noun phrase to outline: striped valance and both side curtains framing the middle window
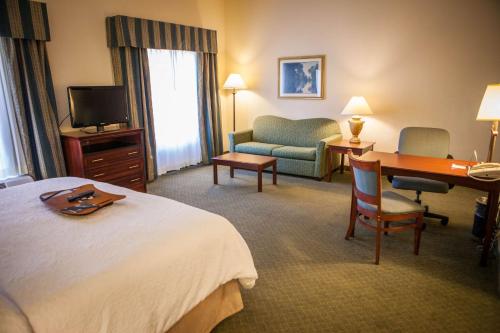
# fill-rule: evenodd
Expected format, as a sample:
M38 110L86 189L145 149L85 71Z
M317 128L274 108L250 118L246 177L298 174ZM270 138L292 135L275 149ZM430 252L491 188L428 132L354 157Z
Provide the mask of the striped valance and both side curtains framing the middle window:
M106 18L106 32L116 84L127 86L132 126L144 127L148 180L154 180L156 150L147 49L197 52L199 127L202 158L222 153L220 97L217 84L217 32L127 16Z

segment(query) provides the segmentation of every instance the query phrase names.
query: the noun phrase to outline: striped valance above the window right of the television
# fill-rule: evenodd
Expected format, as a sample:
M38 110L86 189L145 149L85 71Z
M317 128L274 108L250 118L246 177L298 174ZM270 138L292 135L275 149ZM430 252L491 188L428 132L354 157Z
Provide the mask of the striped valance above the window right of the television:
M106 18L109 47L217 53L217 31L128 16Z

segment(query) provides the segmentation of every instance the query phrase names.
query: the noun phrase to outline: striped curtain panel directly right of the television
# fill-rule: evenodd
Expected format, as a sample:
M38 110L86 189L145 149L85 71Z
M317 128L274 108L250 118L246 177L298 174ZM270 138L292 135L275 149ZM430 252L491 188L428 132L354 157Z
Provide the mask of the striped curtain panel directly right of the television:
M127 87L130 125L144 128L147 177L152 181L157 171L147 49L113 47L111 59L115 83Z

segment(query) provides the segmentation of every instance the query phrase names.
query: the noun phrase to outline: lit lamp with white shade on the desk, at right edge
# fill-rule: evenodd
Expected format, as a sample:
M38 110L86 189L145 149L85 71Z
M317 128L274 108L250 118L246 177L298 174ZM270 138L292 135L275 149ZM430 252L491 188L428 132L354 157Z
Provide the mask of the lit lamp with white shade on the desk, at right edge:
M498 120L500 120L500 84L490 84L486 87L476 120L492 122L490 147L486 158L486 162L491 162L498 135Z

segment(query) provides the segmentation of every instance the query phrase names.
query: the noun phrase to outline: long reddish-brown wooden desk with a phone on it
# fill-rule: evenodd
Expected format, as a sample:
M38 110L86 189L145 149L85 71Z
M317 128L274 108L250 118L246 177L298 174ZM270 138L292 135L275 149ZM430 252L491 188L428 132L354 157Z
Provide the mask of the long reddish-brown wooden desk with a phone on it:
M487 222L481 254L481 266L486 266L493 240L493 231L498 214L500 181L482 182L467 176L467 170L452 168L453 164L472 166L476 162L445 158L422 157L370 151L361 156L362 160L380 160L382 174L393 176L421 177L443 181L449 184L473 188L488 193Z

